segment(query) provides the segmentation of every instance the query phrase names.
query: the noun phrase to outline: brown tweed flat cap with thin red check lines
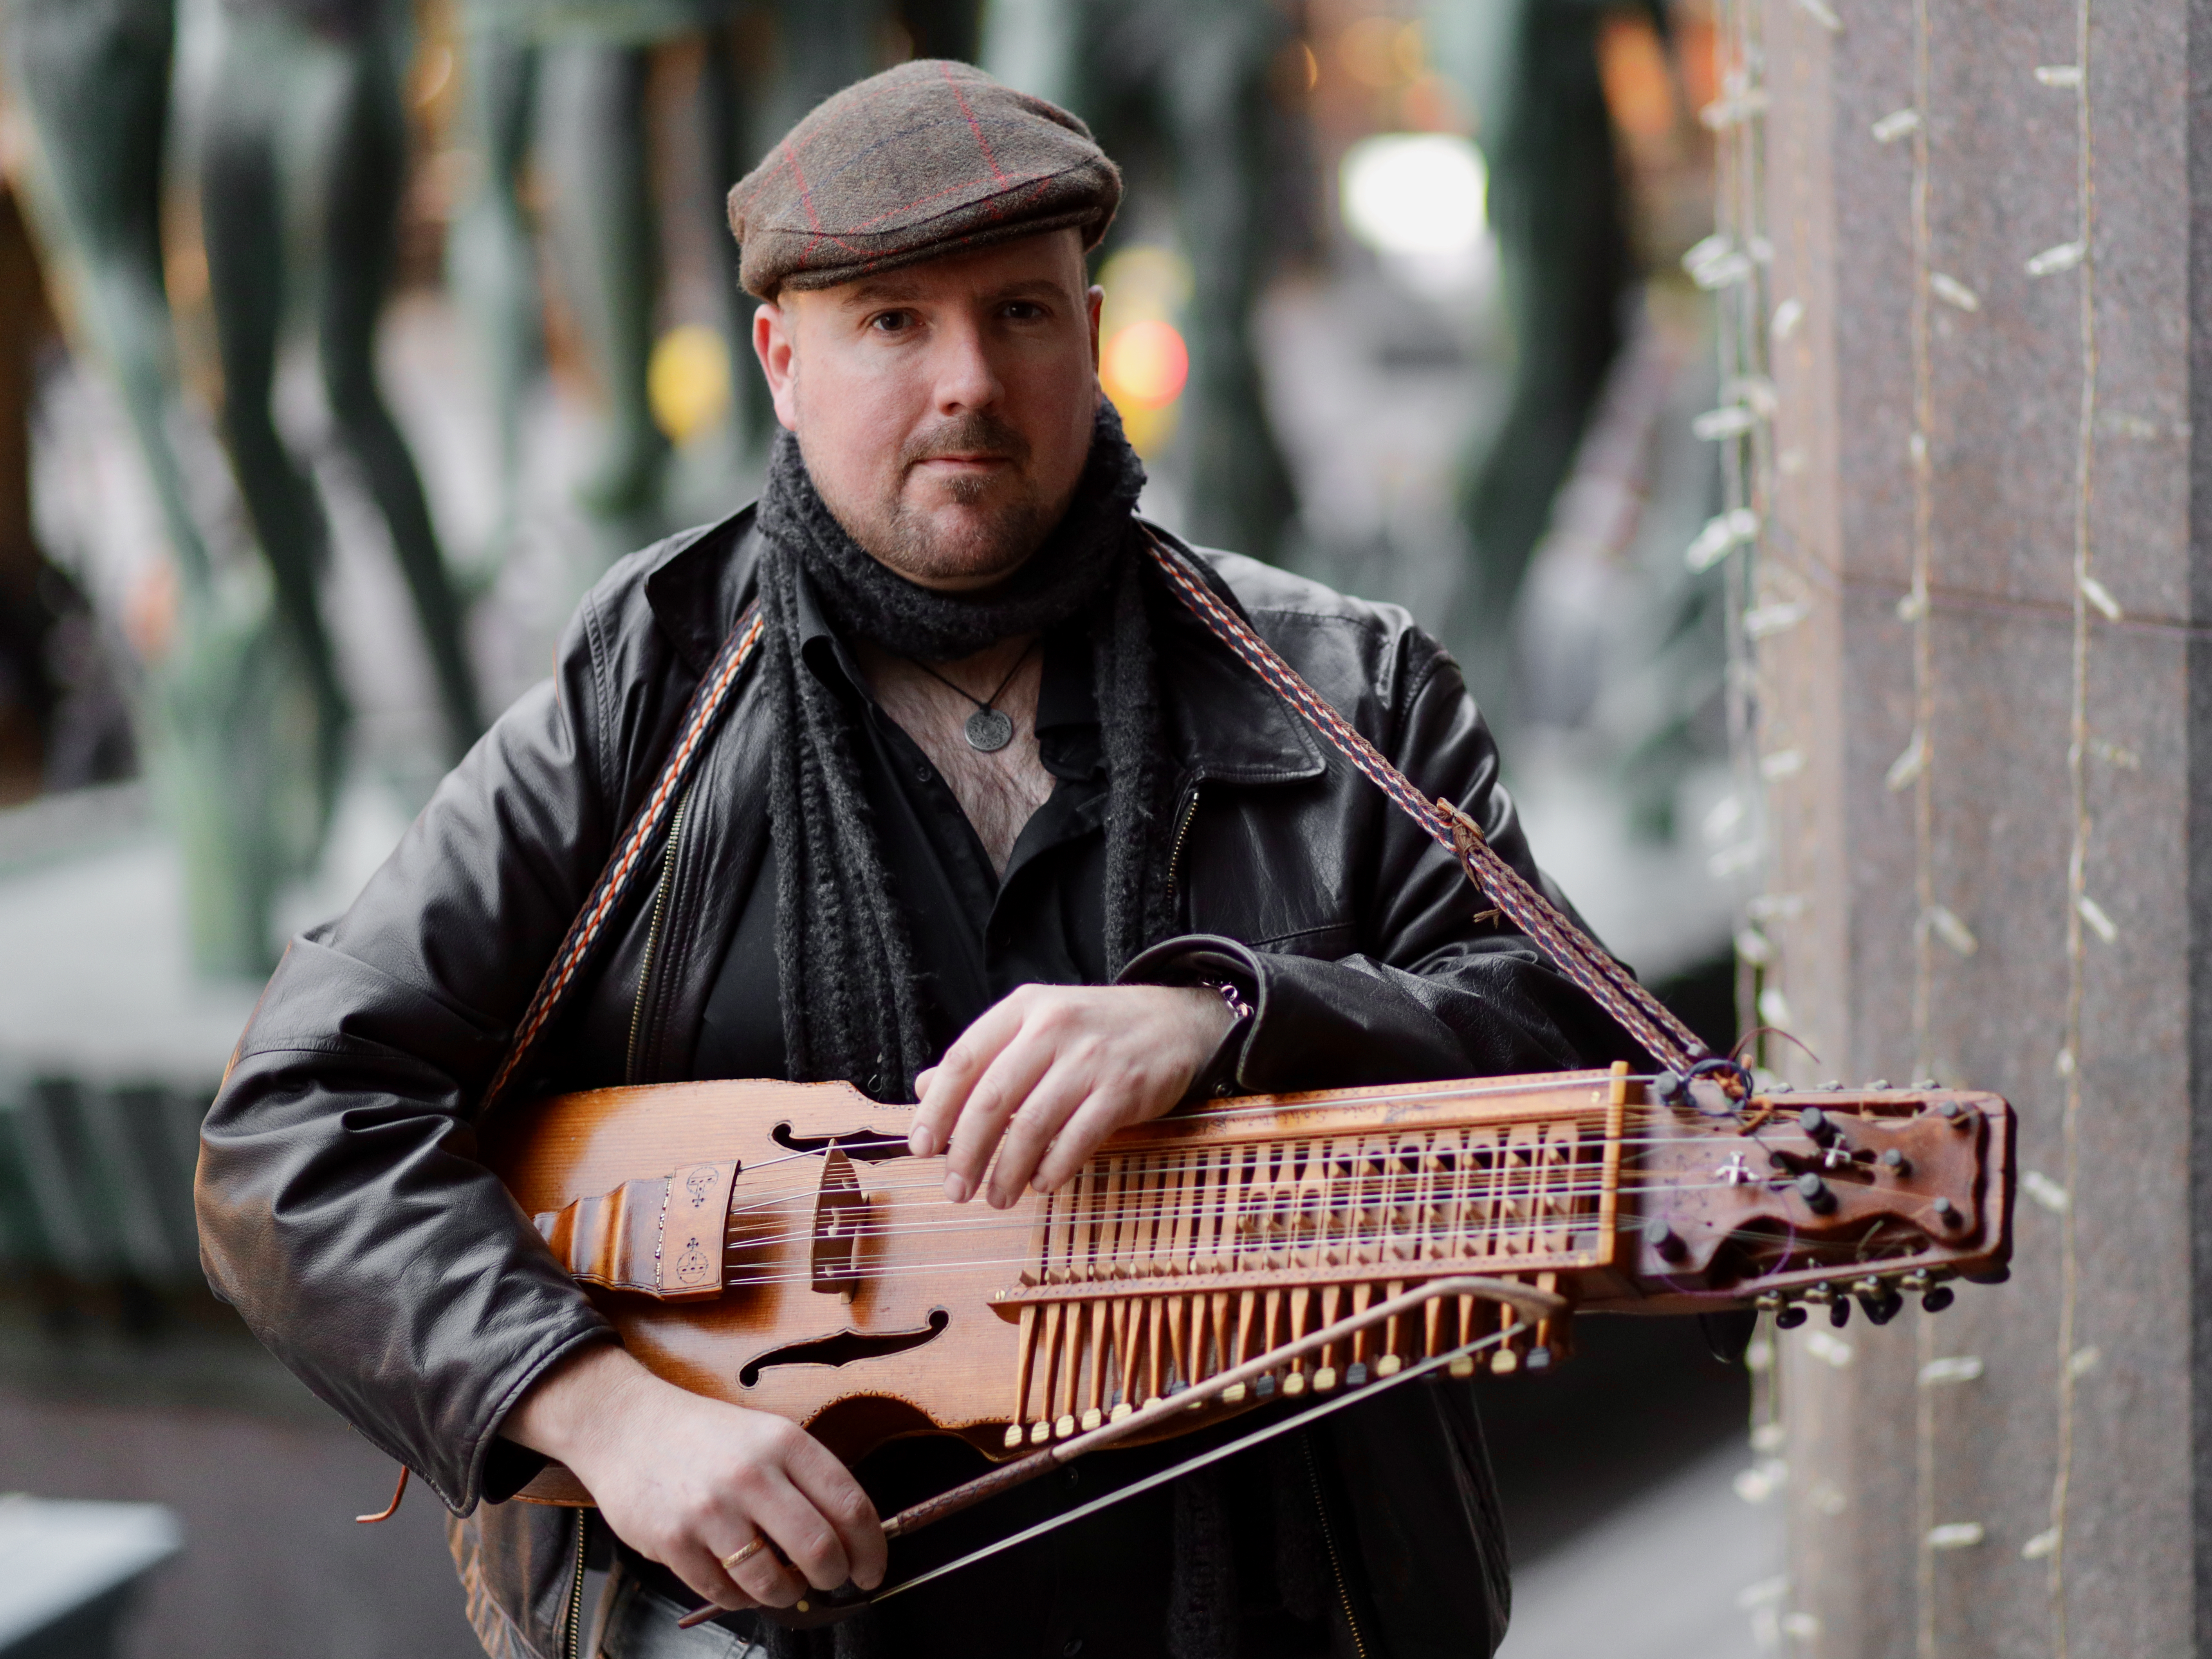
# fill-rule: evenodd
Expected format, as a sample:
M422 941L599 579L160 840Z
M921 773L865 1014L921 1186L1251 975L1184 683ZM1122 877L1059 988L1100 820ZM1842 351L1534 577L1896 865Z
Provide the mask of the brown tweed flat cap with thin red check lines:
M1091 128L969 64L922 58L823 100L730 190L761 299L1075 226L1095 248L1121 170Z

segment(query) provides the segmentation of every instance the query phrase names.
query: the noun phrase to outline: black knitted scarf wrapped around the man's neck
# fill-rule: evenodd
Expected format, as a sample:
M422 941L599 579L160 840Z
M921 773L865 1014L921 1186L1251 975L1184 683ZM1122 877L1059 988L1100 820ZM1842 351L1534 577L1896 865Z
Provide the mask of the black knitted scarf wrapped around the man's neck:
M876 845L860 785L854 710L799 659L799 573L830 624L907 657L951 661L1020 633L1093 615L1093 670L1106 757L1106 964L1117 973L1172 929L1166 799L1146 560L1130 513L1144 462L1099 407L1075 500L1006 582L936 593L872 557L807 476L792 434L770 456L759 524L761 639L776 723L768 823L776 847L776 967L783 1044L799 1082L845 1079L911 1099L936 1060L916 1002L914 942Z

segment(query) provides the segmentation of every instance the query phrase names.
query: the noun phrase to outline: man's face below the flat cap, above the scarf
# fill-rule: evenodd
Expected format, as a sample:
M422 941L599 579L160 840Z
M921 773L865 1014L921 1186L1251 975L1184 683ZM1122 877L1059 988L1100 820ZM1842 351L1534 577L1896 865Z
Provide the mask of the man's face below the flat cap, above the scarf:
M1099 290L1082 237L787 292L752 349L847 533L900 575L984 588L1075 495L1097 414Z

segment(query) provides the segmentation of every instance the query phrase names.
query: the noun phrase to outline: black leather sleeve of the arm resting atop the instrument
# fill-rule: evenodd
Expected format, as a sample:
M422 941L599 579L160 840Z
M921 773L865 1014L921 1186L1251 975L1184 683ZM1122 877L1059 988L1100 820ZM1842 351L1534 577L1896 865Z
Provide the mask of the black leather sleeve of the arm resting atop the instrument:
M1498 745L1475 712L1458 664L1405 630L1385 681L1411 686L1402 706L1374 708L1365 734L1425 796L1449 796L1491 845L1568 909L1542 876L1513 799L1498 781ZM1329 765L1343 765L1329 752ZM1349 770L1349 768L1347 768ZM1644 1051L1467 880L1458 858L1358 785L1369 807L1347 825L1358 838L1356 953L1318 960L1219 936L1155 945L1126 982L1225 980L1252 1002L1223 1077L1241 1093L1484 1077L1526 1071L1648 1064ZM1579 918L1577 918L1579 922Z

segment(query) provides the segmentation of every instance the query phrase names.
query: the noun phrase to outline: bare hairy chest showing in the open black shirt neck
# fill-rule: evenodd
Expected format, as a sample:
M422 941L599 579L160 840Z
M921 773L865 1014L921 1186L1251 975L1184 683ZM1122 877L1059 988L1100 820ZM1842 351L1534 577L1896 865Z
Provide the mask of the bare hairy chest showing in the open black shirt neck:
M1031 650L1033 644L1033 637L1000 639L973 657L933 664L953 686L964 686L975 697L991 697L1006 679L1006 670L1020 659L1022 666L1006 681L1006 690L991 701L991 708L1013 721L1013 741L995 754L984 754L967 741L967 717L975 712L973 701L907 657L867 641L854 646L883 712L938 768L960 803L960 812L973 825L975 838L982 841L991 872L1000 878L1006 874L1006 860L1013 856L1013 843L1022 836L1022 825L1053 792L1053 774L1037 759L1037 688L1044 684L1044 661L1040 653Z

